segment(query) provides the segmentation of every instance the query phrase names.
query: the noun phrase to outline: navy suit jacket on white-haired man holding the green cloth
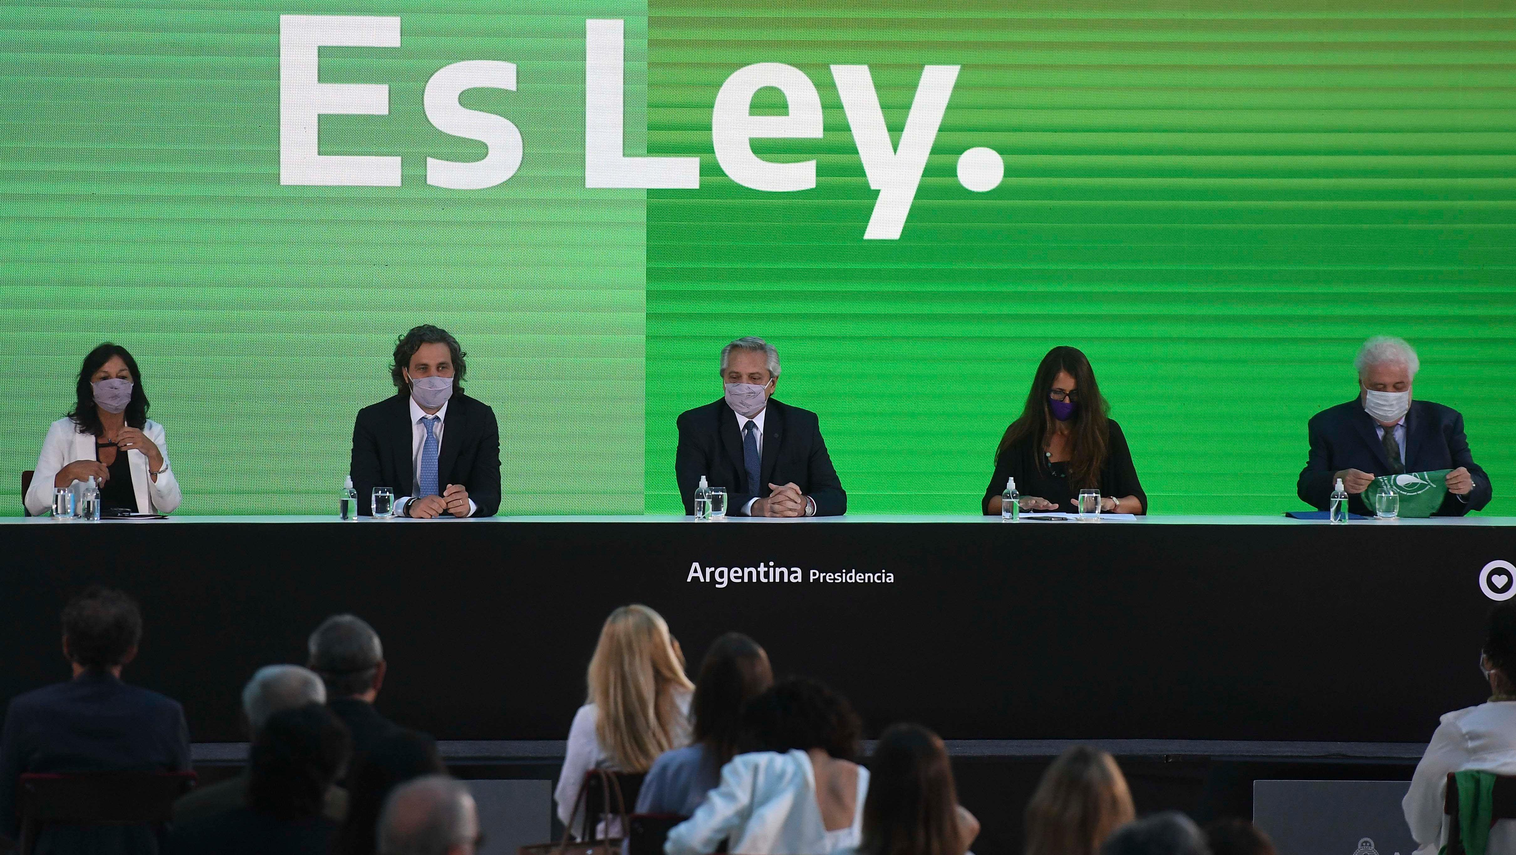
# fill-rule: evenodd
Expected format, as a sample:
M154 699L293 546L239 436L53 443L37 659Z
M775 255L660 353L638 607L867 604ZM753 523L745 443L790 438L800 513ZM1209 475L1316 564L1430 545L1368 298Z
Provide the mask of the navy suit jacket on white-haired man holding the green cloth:
M1323 409L1311 417L1310 458L1295 485L1301 500L1325 511L1331 506L1334 474L1345 468L1357 468L1372 474L1390 474L1390 461L1384 456L1384 443L1373 429L1375 421L1363 411L1357 399ZM1474 476L1474 491L1458 499L1452 493L1437 508L1437 517L1461 517L1490 503L1490 476L1469 453L1469 440L1463 435L1463 415L1451 406L1430 400L1411 400L1405 414L1405 471L1431 471L1437 468L1469 470ZM1466 500L1464 500L1466 499ZM1349 496L1348 508L1354 514L1372 515L1363 496Z

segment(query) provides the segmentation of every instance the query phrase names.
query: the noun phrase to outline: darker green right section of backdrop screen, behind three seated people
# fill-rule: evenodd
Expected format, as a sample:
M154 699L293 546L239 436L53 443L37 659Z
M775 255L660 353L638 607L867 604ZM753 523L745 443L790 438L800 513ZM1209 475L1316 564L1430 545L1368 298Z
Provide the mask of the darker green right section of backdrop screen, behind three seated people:
M1090 355L1154 512L1301 508L1305 421L1355 394L1372 334L1422 355L1496 496L1516 476L1516 8L1464 2L658 2L649 147L702 153L647 205L647 509L670 511L678 411L717 349L778 344L860 512L975 512L1055 344ZM711 155L749 62L816 83L816 189L764 194ZM923 64L961 64L899 241L828 64L867 64L897 139ZM776 92L767 89L767 92ZM767 102L782 109L782 99ZM973 194L957 156L990 146ZM1516 512L1498 497L1489 512Z

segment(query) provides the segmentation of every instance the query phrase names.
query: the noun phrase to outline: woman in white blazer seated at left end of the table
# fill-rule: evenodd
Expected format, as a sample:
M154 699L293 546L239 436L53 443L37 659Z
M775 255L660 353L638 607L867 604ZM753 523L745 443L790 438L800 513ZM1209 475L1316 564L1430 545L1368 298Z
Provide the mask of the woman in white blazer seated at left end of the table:
M179 506L179 482L168 468L164 426L147 418L147 393L136 359L105 343L85 356L73 411L53 421L36 458L26 509L45 514L53 490L89 478L105 508L168 514Z

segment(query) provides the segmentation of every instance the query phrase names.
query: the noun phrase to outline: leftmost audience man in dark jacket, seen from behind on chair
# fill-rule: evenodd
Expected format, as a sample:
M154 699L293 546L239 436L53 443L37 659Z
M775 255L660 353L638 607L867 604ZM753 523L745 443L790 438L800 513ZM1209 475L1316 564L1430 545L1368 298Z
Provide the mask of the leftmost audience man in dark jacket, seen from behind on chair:
M183 708L121 682L136 658L143 614L111 588L91 587L64 608L68 682L11 700L0 735L0 829L17 837L17 778L27 772L185 772ZM149 826L49 826L38 852L156 852Z

